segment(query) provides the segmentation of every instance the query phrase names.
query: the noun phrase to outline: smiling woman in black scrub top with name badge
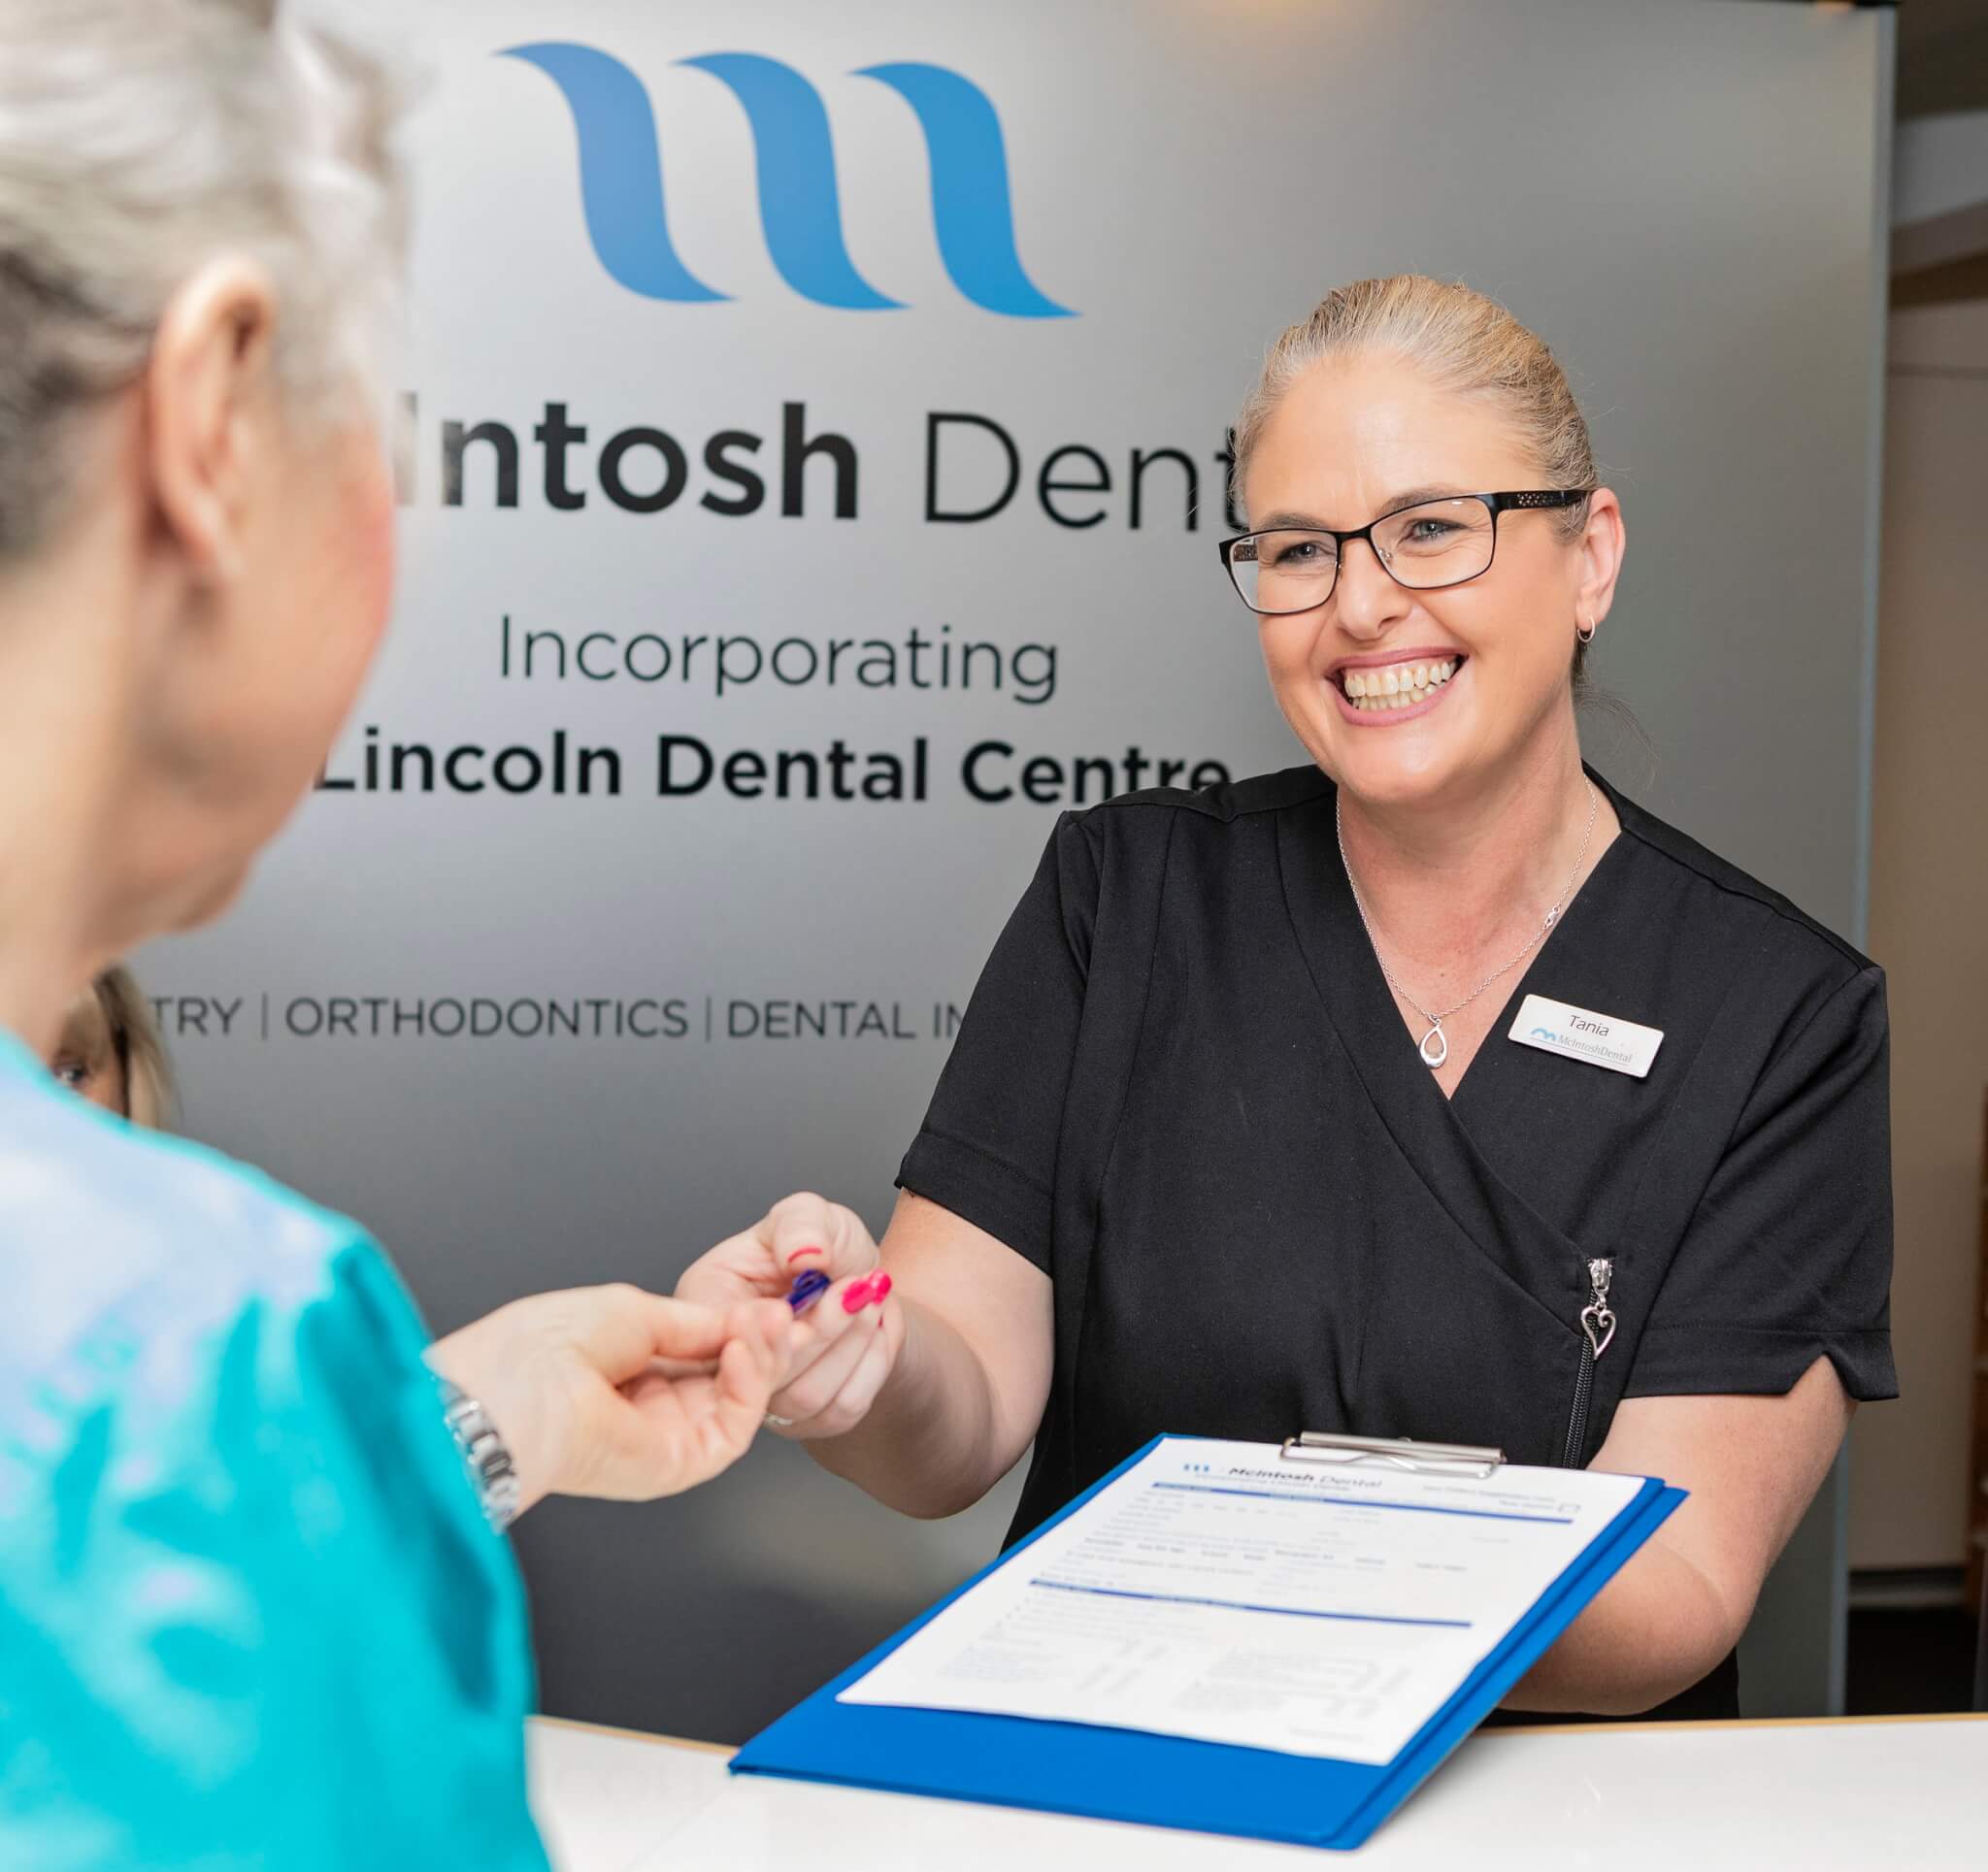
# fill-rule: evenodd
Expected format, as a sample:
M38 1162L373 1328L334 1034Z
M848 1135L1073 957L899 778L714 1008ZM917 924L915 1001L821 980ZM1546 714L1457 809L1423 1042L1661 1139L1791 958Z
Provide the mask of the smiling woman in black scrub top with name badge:
M1507 1707L1736 1715L1759 1584L1897 1389L1883 978L1582 767L1622 513L1507 312L1334 292L1237 487L1223 556L1310 759L1058 823L887 1298L815 1310L771 1421L926 1516L1034 1443L1016 1534L1159 1431L1666 1477L1690 1500ZM877 1260L797 1196L680 1292L827 1264L875 1298Z

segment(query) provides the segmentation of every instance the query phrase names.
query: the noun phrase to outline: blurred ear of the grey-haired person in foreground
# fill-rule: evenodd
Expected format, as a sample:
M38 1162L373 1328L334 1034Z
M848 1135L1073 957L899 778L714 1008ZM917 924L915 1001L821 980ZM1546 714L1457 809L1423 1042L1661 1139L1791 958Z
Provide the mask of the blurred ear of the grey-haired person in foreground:
M276 294L254 260L211 260L167 302L145 368L145 451L159 523L187 568L241 564L258 425L270 407Z

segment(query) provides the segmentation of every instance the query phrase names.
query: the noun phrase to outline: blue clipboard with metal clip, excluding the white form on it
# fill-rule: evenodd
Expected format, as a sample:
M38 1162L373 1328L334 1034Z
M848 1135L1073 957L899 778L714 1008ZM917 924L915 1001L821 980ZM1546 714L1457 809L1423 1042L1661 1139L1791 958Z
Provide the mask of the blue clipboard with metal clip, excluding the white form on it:
M930 1612L755 1735L732 1759L732 1773L1352 1850L1499 1705L1684 1500L1682 1488L1644 1479L1435 1715L1380 1767L1135 1729L837 1701L946 1606L1169 1441L1197 1439L1155 1437L1137 1449ZM1489 1477L1503 1465L1503 1453L1477 1445L1304 1433L1286 1439L1278 1461L1384 1463Z

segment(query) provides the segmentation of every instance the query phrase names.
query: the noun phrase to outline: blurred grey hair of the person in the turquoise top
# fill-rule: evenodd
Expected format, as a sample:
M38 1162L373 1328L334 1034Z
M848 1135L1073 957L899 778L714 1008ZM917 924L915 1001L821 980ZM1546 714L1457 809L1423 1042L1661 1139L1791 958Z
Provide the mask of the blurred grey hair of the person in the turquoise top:
M378 399L400 107L286 0L0 0L0 560L56 523L74 421L211 258L268 268L286 397Z

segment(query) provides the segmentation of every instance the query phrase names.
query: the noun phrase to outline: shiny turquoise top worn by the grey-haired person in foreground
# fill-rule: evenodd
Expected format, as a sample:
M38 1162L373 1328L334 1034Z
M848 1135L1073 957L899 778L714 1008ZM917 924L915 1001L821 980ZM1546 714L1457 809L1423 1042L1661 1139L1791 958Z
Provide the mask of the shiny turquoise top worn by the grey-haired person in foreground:
M0 1033L0 1866L545 1868L425 1343L354 1222Z

